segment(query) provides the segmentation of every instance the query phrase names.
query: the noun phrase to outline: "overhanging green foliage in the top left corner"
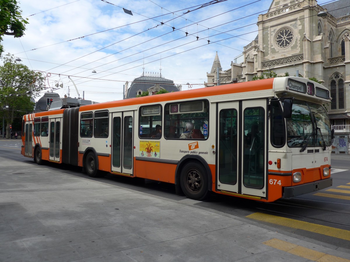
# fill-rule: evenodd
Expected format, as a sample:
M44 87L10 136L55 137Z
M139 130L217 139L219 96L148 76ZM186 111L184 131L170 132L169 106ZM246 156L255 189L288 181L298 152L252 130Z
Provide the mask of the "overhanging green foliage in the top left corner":
M28 19L21 15L21 10L16 0L0 0L0 42L3 35L21 37L26 30ZM0 56L3 46L0 43Z

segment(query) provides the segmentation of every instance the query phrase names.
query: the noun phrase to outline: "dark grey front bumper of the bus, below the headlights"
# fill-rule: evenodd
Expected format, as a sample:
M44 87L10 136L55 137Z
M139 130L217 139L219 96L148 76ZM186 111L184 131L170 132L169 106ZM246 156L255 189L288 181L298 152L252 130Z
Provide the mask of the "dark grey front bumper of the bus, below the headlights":
M295 197L307 193L312 193L331 186L332 177L302 185L294 185L293 187L285 187L283 197Z

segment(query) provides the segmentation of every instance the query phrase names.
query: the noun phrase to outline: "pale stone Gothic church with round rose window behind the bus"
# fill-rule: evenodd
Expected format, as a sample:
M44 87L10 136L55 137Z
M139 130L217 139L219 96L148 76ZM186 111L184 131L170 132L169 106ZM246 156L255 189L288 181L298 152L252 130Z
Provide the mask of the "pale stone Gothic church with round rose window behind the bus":
M328 113L337 136L350 142L350 1L273 0L260 14L258 35L223 70L216 53L205 87L251 81L266 71L299 73L328 87ZM218 74L219 73L219 74ZM340 150L340 149L339 149ZM348 150L336 153L347 154Z

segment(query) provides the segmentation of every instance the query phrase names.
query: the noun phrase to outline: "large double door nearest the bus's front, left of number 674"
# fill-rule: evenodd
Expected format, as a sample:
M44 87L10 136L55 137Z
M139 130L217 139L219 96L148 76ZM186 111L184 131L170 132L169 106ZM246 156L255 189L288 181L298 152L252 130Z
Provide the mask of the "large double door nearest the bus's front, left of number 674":
M266 194L266 100L218 104L217 190Z

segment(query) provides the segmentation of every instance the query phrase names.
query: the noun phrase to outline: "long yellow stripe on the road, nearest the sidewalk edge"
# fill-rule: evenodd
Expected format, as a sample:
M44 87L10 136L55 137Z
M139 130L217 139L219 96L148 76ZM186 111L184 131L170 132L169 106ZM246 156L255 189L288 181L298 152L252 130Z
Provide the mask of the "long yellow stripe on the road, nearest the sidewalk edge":
M299 221L295 219L272 216L269 214L263 214L259 212L250 214L249 216L246 216L246 217L268 222L268 223L273 223L276 225L287 226L287 227L302 229L305 231L315 232L318 234L328 235L334 238L350 240L350 231L342 230L342 229L334 228L330 226L322 226L322 225L317 225L317 224Z

